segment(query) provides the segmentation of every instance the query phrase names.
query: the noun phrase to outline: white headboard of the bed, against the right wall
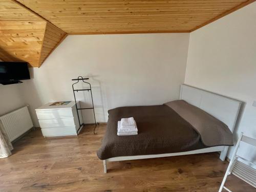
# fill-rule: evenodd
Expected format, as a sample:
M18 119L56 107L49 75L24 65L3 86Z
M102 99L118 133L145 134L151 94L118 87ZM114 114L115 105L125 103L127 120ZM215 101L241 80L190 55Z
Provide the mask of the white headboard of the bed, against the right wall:
M185 84L180 88L180 99L197 106L215 118L224 122L233 132L241 108L241 101L215 93L190 87Z

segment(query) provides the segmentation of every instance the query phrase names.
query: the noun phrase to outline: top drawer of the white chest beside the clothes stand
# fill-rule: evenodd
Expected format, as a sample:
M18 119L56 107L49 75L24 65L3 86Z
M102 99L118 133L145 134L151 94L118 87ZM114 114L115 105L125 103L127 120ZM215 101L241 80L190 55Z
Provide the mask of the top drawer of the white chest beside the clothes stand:
M72 110L47 110L36 111L37 118L40 119L58 119L73 117Z

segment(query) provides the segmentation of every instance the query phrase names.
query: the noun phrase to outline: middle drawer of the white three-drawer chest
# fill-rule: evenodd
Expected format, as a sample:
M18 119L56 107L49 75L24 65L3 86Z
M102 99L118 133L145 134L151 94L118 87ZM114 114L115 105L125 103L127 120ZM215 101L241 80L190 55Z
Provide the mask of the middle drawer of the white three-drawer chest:
M74 118L38 120L41 128L75 126Z

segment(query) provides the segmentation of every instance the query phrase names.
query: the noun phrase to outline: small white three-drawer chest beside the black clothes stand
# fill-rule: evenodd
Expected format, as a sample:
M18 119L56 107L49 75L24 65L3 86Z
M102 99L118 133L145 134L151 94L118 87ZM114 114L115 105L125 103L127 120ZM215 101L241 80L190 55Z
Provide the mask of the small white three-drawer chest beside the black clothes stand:
M52 103L47 103L35 110L42 135L45 137L77 135L81 129L79 129L75 101L66 105L51 106ZM80 108L79 101L77 108ZM78 114L82 123L81 112L78 111Z

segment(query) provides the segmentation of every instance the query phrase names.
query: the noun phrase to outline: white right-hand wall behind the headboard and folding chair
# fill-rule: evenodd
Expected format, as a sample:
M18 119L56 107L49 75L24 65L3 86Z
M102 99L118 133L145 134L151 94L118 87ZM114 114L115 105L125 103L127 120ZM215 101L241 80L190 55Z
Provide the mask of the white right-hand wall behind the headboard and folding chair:
M256 3L190 33L185 83L244 101L236 134L256 138ZM231 150L232 151L232 150ZM243 145L239 153L256 159ZM230 154L229 154L230 157Z

